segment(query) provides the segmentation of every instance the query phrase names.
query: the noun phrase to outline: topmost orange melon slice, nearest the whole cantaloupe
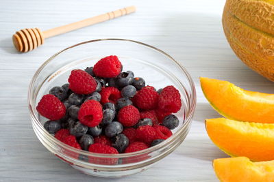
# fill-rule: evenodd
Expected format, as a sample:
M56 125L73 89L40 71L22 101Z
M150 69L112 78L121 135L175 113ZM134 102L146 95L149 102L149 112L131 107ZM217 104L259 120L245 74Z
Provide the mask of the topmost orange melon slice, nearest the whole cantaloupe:
M238 121L274 123L274 94L245 91L230 82L200 78L211 106L224 117Z

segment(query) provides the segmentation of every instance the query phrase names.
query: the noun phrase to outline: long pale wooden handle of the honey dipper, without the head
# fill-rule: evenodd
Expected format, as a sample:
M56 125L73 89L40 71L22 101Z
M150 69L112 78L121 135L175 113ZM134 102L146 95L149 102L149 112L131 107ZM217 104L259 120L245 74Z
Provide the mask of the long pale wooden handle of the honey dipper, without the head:
M49 29L47 31L43 31L43 34L44 34L45 38L53 37L55 35L59 35L59 34L66 33L66 32L69 32L69 31L73 31L73 30L76 30L76 29L81 29L83 27L87 27L87 26L90 26L90 25L94 25L94 24L99 23L99 22L103 22L103 21L106 21L106 20L111 20L113 18L118 18L120 16L124 16L126 14L130 14L132 12L135 12L135 10L136 10L135 6L132 5L132 6L129 6L129 7L122 8L120 10L116 10L114 12L108 12L106 14L101 14L99 16L95 16L95 17L92 17L92 18L87 18L85 20L80 20L78 22L73 22L73 23L68 24L68 25L63 25L61 27L56 27L54 29Z

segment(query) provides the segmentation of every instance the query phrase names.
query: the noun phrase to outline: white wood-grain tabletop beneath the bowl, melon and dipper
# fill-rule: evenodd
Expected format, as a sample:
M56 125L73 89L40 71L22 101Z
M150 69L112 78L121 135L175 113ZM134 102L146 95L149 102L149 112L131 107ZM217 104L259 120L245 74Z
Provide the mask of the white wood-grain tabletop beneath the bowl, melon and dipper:
M204 119L219 117L203 97L199 76L229 80L253 91L273 92L273 83L249 70L225 40L221 14L225 1L0 1L0 181L110 181L84 175L58 160L36 138L27 109L27 88L36 69L58 50L86 40L119 37L156 46L182 62L197 87L190 133L153 168L111 181L217 181L212 160L227 157L206 134ZM42 30L136 5L137 12L53 37L19 54L12 34Z

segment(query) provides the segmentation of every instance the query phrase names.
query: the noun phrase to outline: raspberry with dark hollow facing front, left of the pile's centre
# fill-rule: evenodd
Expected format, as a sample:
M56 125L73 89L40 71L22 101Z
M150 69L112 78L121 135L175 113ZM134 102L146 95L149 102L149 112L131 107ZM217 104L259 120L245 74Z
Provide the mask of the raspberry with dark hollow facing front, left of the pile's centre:
M95 127L103 118L101 104L96 100L88 100L81 105L78 112L78 119L83 125Z

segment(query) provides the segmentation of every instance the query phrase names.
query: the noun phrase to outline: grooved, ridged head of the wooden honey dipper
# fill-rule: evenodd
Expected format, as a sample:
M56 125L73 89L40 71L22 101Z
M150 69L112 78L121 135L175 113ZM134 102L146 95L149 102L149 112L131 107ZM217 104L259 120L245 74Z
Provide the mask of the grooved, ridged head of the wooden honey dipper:
M38 28L21 29L12 35L14 47L19 52L28 52L44 43L44 35Z

